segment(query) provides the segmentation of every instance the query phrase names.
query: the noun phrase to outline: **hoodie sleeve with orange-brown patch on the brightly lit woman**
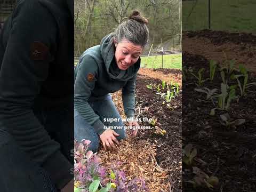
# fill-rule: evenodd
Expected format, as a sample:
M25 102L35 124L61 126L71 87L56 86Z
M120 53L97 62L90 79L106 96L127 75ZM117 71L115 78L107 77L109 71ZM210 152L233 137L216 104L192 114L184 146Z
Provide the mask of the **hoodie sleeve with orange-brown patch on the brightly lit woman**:
M74 87L75 109L100 135L103 133L105 125L100 121L100 117L95 114L88 102L98 78L97 62L90 55L85 54L77 67Z

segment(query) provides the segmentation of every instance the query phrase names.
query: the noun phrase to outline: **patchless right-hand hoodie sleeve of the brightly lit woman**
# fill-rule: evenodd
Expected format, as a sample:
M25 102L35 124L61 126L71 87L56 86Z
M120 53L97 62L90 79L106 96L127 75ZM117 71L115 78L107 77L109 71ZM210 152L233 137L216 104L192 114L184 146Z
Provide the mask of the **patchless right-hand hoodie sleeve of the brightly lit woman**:
M135 115L135 87L137 74L127 81L122 89L122 100L124 105L124 113L127 118Z

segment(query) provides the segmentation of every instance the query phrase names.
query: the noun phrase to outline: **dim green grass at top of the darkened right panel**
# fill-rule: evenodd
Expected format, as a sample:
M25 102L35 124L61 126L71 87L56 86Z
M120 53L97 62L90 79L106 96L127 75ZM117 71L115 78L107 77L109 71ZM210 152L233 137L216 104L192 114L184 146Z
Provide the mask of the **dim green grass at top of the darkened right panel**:
M208 1L182 2L182 29L201 30L208 28ZM211 29L256 33L255 0L211 0Z

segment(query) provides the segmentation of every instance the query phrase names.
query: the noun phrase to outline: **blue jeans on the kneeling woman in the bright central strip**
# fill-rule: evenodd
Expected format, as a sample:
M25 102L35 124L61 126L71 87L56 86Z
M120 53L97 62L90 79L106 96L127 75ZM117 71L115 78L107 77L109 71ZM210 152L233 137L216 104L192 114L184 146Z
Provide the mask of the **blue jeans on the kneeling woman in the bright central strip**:
M117 140L122 140L126 138L126 133L124 129L124 123L122 122L121 116L116 109L115 103L111 99L111 95L106 95L105 98L97 100L95 102L89 102L90 106L94 110L95 114L100 117L105 126L120 126L122 129L115 129L114 131L119 134ZM98 151L99 148L99 135L95 132L93 126L91 126L87 121L78 113L75 109L74 111L74 133L75 139L81 141L82 139L90 140L91 143L88 146L88 150L92 150L94 153ZM104 122L104 118L117 118L118 122ZM103 129L103 127L102 127Z

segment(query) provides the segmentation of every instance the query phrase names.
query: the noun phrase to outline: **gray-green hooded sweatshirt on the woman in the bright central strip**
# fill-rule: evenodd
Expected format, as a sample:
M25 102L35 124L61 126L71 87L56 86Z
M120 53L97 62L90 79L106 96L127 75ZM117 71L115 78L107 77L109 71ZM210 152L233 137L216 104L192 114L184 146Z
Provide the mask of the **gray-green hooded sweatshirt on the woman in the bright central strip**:
M108 93L122 89L124 111L127 118L135 114L135 81L140 58L133 66L120 70L115 60L114 34L104 37L100 45L87 49L75 68L74 105L78 113L100 135L105 126L94 113L89 102L100 100Z

